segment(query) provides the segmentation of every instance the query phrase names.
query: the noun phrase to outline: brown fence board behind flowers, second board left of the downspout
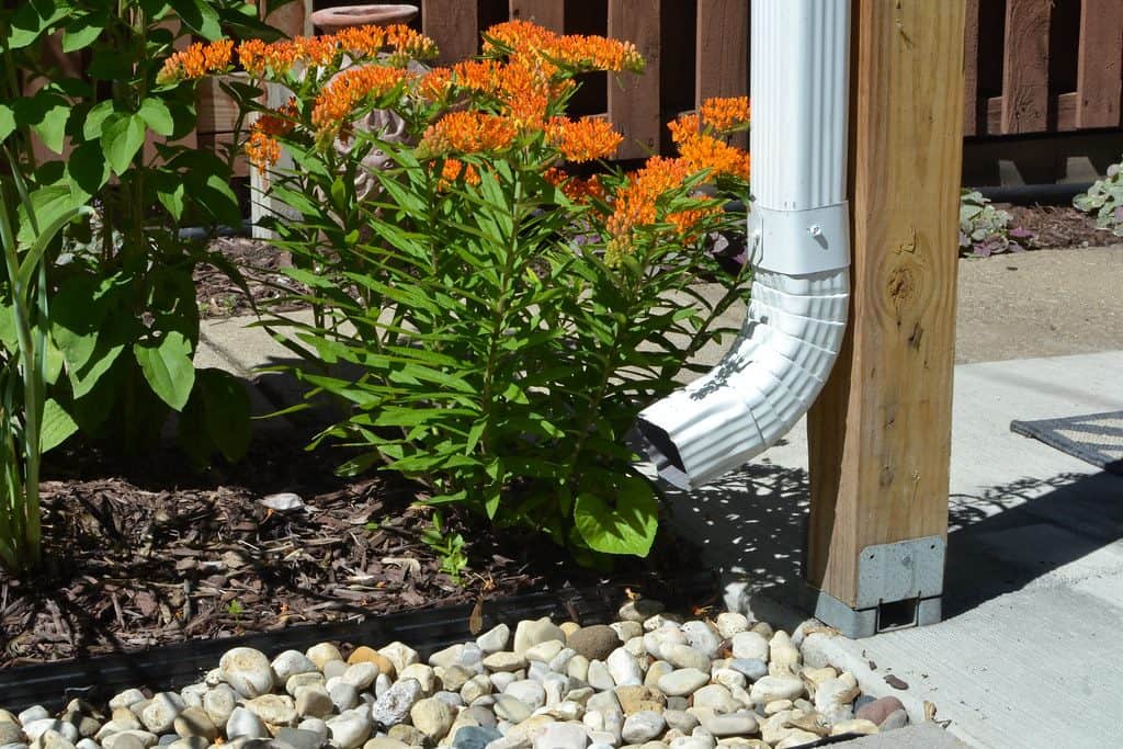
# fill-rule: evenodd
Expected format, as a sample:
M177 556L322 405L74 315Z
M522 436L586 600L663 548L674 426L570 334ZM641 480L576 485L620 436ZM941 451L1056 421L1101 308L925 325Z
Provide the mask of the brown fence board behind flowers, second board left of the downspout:
M647 61L642 75L609 80L609 120L623 134L617 158L643 158L659 150L660 0L609 0L609 36L631 42Z

